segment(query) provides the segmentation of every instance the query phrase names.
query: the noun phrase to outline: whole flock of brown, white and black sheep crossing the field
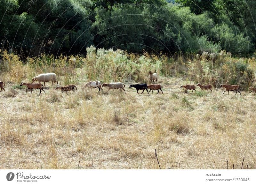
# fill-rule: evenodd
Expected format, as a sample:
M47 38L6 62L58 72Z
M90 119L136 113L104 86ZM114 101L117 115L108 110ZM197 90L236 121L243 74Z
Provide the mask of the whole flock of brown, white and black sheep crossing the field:
M150 91L152 90L152 94L153 94L154 90L157 90L157 94L159 93L159 90L160 90L163 94L162 85L157 84L157 77L158 77L157 73L153 73L152 71L149 71L148 74L149 74L149 85L148 84L132 84L132 85L129 86L129 88L134 87L137 90L137 94L138 94L139 90L141 90L142 93L144 92L144 90L146 90L148 93L150 93ZM35 81L39 81L39 82L38 83L24 83L24 82L22 82L20 84L20 86L23 86L23 85L27 86L26 93L27 93L28 90L30 90L31 93L32 93L32 89L39 89L40 90L39 94L41 94L41 92L44 91L45 82L52 82L52 85L53 85L53 82L58 84L57 77L56 77L55 73L40 74L40 75L32 78L32 82L35 82ZM154 84L154 81L156 81L156 84ZM44 82L44 85L41 84L40 82ZM152 82L152 84L151 84L151 82ZM3 85L5 85L5 83L0 82L1 91L4 90L4 92L5 92L5 89L4 89ZM211 92L212 92L212 85L197 84L196 86L199 86L202 90L211 90ZM187 93L188 90L192 90L192 93L193 93L194 90L196 91L196 86L195 85L181 85L180 88L185 88L186 89L184 93ZM123 90L124 93L126 93L125 89L124 89L125 85L121 82L115 82L115 83L110 83L110 84L103 83L101 85L100 81L91 81L91 82L88 82L85 85L85 87L92 87L92 88L97 88L98 87L99 92L100 92L100 90L102 90L102 87L108 87L108 91L110 89L120 89L120 91ZM228 91L228 94L229 94L229 91L236 91L236 93L239 92L240 95L241 95L241 92L240 92L240 89L239 89L238 85L224 85L224 84L221 84L220 87L224 87L226 89L226 91ZM75 91L75 88L76 88L75 85L66 85L66 86L63 86L63 87L57 86L56 90L59 89L59 90L62 91L61 93L66 92L68 94L68 91ZM149 89L149 91L148 91L148 89ZM76 90L77 90L77 88L76 88ZM249 91L254 91L254 94L256 93L256 88L254 88L254 87L250 87L248 90ZM224 91L224 93L226 91ZM44 93L45 93L45 91L44 91Z

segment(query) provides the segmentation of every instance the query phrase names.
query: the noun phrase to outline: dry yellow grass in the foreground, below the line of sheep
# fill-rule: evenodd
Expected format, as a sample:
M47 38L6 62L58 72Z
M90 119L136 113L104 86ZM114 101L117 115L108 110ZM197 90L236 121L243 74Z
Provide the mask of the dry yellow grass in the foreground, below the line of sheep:
M162 81L161 81L162 79ZM6 84L0 93L1 169L256 169L252 94L184 94L181 78L161 78L164 95L127 88L38 96ZM193 82L189 82L193 83ZM9 95L6 95L9 93Z

